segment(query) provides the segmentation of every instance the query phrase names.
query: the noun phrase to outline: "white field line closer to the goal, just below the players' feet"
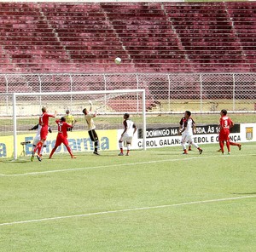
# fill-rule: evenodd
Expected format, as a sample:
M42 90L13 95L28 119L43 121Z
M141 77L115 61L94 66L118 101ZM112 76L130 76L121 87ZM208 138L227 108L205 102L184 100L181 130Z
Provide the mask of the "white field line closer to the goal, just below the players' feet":
M236 157L248 157L248 156L254 156L254 155L255 154L245 154L245 155L236 155ZM218 156L216 156L216 155L215 156L202 156L202 155L199 156L198 155L197 157L192 157L192 158L175 158L175 159L164 159L164 160L158 159L158 160L151 160L151 161L144 161L144 162L137 162L137 163L119 163L119 164L108 164L108 165L82 167L82 168L54 169L54 170L45 170L45 171L35 171L35 172L28 172L28 173L21 173L21 174L13 174L13 175L0 174L0 177L15 177L15 176L25 176L25 175L44 175L44 174L58 173L58 172L79 171L79 170L85 170L85 169L104 169L104 168L133 166L133 165L150 164L150 163L188 161L188 160L198 159L198 158L224 158L224 157L230 157L230 155L225 155L225 156L223 156L221 154L219 154Z

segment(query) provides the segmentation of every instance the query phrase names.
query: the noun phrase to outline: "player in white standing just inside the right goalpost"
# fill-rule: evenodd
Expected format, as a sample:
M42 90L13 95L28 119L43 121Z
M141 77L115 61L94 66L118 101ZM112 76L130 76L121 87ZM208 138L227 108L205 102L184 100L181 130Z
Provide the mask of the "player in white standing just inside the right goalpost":
M135 125L135 123L133 123L130 119L129 119L130 115L128 113L125 113L124 115L124 132L121 135L121 138L119 139L119 148L120 148L120 153L119 156L124 156L124 150L123 150L123 142L126 142L126 146L127 146L127 152L126 152L126 156L129 156L129 152L131 150L131 141L132 141L132 137L135 134L135 132L137 131L137 127Z

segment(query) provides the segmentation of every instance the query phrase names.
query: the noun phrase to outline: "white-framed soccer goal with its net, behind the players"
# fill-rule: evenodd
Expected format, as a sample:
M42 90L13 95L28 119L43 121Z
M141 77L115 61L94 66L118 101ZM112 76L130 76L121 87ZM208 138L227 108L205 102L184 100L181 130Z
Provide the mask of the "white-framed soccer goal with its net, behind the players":
M1 104L4 105L5 100L3 99ZM146 100L144 89L15 93L12 94L11 98L9 97L8 105L9 116L12 114L13 118L13 125L7 127L3 133L6 136L13 135L14 158L31 153L33 135L36 135L36 131L31 129L38 124L38 117L42 114L43 106L47 108L49 114L54 114L56 111L56 118L67 116L66 112L68 110L76 121L72 132L68 134L68 139L71 138L69 144L73 152L90 151L92 142L89 139L82 112L84 108L90 110L90 103L92 104L92 112L97 113L95 124L96 130L99 131L97 133L100 140L100 149L102 140L102 151L114 149L114 146L118 145L117 135L113 134L113 131L116 132L117 129L123 129L123 114L126 112L131 114L132 120L137 124L137 128L143 130L143 148L145 148ZM7 107L6 104L5 107ZM2 117L3 114L4 112L2 112ZM52 134L49 134L46 141L47 153L53 148L57 135L55 118L49 119L49 125L52 129ZM61 149L56 152L61 152Z

